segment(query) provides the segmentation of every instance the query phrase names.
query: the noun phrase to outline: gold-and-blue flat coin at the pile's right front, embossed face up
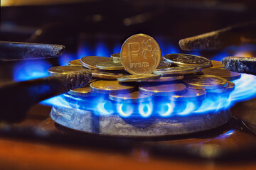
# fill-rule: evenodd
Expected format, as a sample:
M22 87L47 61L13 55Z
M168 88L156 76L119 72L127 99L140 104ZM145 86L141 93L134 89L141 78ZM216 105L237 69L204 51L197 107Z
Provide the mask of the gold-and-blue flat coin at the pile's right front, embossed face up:
M191 89L222 89L227 84L226 79L215 76L191 76L183 81Z

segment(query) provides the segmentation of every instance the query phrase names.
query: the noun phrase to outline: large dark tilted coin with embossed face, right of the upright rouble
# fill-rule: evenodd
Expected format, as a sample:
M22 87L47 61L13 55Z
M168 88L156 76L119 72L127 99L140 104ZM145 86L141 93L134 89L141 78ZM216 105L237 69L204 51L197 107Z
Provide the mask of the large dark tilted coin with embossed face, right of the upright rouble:
M169 54L164 56L164 60L177 66L210 67L211 62L205 57L188 54Z

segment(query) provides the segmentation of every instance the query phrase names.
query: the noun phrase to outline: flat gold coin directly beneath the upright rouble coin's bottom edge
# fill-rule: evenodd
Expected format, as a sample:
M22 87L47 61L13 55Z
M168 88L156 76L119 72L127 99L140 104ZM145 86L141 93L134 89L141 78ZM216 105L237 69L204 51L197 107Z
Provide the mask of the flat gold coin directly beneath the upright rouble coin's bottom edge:
M118 77L118 81L146 81L148 79L159 79L160 75L157 74L140 74L140 75L127 75Z

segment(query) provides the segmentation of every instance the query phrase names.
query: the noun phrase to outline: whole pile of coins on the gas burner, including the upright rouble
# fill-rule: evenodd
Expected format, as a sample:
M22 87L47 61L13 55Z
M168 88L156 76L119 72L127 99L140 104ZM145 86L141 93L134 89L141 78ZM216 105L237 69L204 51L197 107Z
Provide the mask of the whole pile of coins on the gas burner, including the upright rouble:
M110 57L87 56L69 66L53 67L50 74L66 74L88 69L90 84L73 89L73 96L108 94L110 100L139 103L153 96L168 96L173 101L200 101L208 93L230 93L235 89L231 80L240 74L223 68L221 62L188 54L161 57L161 49L149 35L132 35L120 53Z

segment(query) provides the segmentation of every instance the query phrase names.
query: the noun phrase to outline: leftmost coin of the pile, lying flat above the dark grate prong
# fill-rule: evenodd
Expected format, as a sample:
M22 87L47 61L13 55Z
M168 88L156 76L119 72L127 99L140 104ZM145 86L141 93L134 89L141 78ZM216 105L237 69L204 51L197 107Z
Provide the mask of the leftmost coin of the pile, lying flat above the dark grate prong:
M85 69L82 66L57 66L57 67L51 67L50 69L48 69L48 72L50 74L70 74L73 72L82 72L82 71L86 71L88 69Z

